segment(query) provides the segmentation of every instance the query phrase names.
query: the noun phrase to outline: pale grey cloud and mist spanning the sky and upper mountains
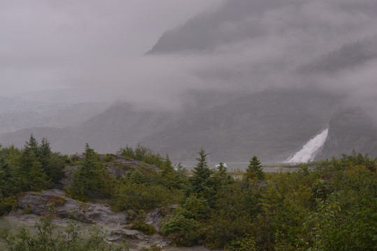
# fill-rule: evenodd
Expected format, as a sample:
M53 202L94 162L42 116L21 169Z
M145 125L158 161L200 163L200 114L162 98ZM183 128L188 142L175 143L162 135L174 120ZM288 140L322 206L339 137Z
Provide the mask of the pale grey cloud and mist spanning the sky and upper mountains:
M374 36L376 1L203 2L1 1L1 91L68 86L101 100L176 108L190 89L310 85L377 107L373 59L336 73L297 71ZM205 8L212 12L170 35L190 50L140 56ZM194 50L197 44L205 46Z

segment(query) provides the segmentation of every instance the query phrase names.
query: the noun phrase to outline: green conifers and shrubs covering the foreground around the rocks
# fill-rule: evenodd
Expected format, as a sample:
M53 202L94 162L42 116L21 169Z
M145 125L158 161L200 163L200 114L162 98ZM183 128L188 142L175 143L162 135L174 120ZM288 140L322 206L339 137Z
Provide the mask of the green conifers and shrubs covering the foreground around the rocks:
M244 176L235 179L222 163L209 169L204 150L193 174L187 176L168 155L138 145L118 154L161 171L140 165L116 177L106 171L114 155L101 159L87 145L84 158L77 160L77 156L52 153L47 146L47 140L37 144L31 137L24 149L0 149L0 213L15 208L18 192L50 188L69 164L78 166L66 188L75 199L101 197L116 211L131 208L140 215L158 206L179 204L162 228L162 234L177 245L226 250L377 250L377 158L368 155L343 155L317 162L315 168L302 165L285 173L264 173L253 156ZM151 231L141 221L138 227Z

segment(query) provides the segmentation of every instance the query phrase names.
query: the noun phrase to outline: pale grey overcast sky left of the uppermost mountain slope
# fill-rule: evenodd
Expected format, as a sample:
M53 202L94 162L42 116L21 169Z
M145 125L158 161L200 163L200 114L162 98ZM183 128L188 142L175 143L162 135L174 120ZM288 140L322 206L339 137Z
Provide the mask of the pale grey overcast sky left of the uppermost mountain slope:
M91 70L133 64L163 31L215 3L219 0L0 0L0 96L89 88Z

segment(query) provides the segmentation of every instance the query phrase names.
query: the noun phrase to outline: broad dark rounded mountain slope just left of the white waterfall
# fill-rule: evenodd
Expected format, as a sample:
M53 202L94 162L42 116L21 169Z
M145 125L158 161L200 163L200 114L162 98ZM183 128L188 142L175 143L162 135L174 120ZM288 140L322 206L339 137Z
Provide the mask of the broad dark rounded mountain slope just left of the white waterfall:
M328 125L338 100L302 89L253 93L181 119L142 142L177 160L193 160L203 147L216 161L253 155L282 161Z

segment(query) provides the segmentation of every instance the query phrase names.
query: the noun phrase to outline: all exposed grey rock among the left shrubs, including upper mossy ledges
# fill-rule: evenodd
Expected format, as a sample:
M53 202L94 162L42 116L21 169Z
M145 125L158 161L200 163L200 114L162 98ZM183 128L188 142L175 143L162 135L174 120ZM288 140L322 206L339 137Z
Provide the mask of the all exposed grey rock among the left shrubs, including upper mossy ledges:
M110 155L99 155L101 159ZM105 169L114 177L125 177L128 172L141 170L144 172L161 172L161 169L154 165L147 164L133 159L126 159L123 156L111 155L113 161L107 162ZM77 161L83 159L82 155L75 156ZM94 197L91 201L83 202L72 199L66 195L63 189L73 183L73 172L79 166L66 166L64 177L59 183L55 183L55 189L43 190L41 192L21 192L17 195L17 210L11 211L4 218L12 225L34 225L40 216L52 215L54 224L65 227L68 221L73 220L81 227L87 229L91 225L103 227L107 230L106 238L112 243L126 243L130 250L147 250L154 246L156 248L172 248L172 243L161 233L161 227L176 207L163 206L153 211L136 213L133 210L114 212L103 199ZM61 189L56 189L61 188ZM154 233L138 231L134 227L135 222L151 226ZM82 230L85 233L84 230Z

